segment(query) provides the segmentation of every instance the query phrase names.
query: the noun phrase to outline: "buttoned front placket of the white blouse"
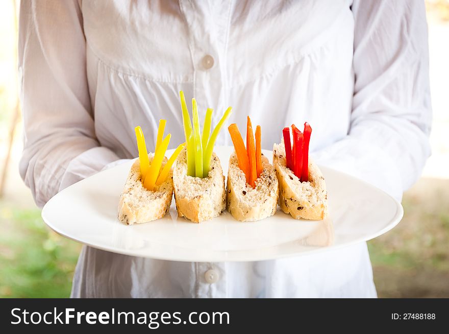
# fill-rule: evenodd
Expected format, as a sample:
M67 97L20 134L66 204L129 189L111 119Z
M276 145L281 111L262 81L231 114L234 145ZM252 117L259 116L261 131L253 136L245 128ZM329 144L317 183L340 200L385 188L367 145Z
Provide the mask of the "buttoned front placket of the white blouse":
M210 4L180 0L193 65L193 97L201 119L208 107L214 108L213 124L228 107L226 63L232 6L232 1ZM197 297L226 297L224 263L196 263L195 277Z

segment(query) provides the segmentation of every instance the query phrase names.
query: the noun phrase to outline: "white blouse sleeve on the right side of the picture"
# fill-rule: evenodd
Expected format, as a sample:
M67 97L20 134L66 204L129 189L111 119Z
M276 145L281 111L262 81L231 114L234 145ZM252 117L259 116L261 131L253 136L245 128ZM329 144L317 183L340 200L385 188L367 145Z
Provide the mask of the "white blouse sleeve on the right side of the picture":
M352 11L355 87L350 130L314 157L401 199L430 155L425 5L417 0L356 0Z

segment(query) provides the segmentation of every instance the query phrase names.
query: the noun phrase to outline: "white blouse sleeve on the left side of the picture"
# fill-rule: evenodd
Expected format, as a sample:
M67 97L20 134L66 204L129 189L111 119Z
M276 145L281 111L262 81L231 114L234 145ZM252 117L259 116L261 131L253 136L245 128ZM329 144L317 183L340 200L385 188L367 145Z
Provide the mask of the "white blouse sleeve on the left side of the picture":
M24 127L19 170L43 206L118 157L95 136L80 3L20 2L18 52Z

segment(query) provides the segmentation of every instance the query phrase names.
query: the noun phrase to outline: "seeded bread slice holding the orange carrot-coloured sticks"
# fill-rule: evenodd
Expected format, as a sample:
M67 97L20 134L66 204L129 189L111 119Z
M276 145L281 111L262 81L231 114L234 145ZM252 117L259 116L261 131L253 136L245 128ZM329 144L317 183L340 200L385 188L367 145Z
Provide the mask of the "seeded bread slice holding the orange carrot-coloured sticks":
M241 222L254 222L276 213L279 193L276 172L263 155L262 165L263 171L253 189L246 183L235 152L229 159L226 206L232 216Z

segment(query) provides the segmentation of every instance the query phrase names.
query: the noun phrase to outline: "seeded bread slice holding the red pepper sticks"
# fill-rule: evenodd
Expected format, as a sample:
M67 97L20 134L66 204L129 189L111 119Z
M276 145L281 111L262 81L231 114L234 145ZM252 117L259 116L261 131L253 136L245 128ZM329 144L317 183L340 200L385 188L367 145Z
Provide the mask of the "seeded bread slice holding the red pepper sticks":
M273 164L279 181L279 206L294 219L320 220L328 215L325 178L309 157L309 182L301 182L287 168L284 142L273 146Z

